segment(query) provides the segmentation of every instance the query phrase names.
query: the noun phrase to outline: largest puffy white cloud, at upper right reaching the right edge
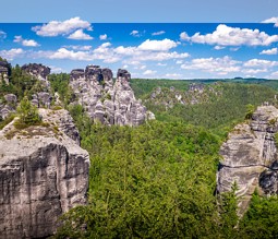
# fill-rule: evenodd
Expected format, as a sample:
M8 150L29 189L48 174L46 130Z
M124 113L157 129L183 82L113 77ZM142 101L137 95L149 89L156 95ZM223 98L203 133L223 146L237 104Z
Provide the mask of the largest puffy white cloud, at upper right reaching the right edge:
M188 35L184 33L184 35ZM278 41L278 35L268 35L259 29L230 27L225 24L219 24L215 32L206 35L195 33L191 37L185 37L185 40L191 40L197 44L208 44L218 46L269 46Z

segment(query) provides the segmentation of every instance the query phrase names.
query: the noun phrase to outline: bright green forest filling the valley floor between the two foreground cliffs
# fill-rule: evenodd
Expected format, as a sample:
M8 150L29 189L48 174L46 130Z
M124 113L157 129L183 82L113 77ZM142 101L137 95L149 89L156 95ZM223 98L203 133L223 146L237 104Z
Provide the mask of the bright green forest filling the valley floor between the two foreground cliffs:
M82 146L90 154L89 205L67 214L58 235L214 238L217 234L215 135L181 123L92 124Z

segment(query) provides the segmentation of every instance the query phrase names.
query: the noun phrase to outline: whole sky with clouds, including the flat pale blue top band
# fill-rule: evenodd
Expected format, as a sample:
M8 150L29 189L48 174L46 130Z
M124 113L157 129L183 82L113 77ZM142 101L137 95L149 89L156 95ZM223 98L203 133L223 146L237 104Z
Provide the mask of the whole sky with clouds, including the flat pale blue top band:
M278 79L277 0L10 0L1 9L0 57L13 65Z

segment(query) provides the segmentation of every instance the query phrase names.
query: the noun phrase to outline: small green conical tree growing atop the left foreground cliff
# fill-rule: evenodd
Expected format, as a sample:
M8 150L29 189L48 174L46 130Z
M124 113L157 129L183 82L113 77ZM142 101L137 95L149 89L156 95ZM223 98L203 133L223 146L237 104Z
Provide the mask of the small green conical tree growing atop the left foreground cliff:
M31 104L26 96L21 100L16 112L20 119L14 123L14 126L17 129L24 129L41 122L38 109Z

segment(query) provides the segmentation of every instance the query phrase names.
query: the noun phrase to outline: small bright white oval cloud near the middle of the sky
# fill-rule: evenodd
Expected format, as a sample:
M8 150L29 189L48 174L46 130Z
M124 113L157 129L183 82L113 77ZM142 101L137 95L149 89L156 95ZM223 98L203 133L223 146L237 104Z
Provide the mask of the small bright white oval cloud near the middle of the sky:
M177 47L178 44L171 39L162 39L162 40L145 40L143 44L138 46L140 50L155 50L155 51L167 51L171 48Z

